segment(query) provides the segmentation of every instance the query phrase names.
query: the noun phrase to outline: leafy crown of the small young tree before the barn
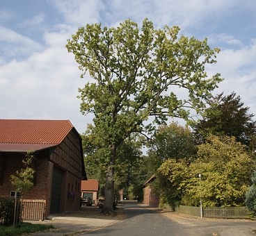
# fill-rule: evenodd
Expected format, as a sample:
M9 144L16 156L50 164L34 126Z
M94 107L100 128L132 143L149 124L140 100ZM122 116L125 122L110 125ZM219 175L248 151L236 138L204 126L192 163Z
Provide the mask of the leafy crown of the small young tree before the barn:
M16 171L16 175L11 175L11 183L15 186L17 192L29 192L33 187L35 170L33 169L33 153L26 153L26 158L22 160L24 168Z

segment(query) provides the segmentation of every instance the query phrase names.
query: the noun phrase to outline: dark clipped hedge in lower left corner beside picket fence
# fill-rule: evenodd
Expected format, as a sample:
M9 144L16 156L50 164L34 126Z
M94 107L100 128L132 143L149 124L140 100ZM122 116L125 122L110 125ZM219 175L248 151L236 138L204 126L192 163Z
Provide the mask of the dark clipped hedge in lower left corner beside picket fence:
M19 203L19 201L17 201ZM14 222L15 201L0 197L0 225L10 226ZM17 221L19 222L20 204L17 204Z

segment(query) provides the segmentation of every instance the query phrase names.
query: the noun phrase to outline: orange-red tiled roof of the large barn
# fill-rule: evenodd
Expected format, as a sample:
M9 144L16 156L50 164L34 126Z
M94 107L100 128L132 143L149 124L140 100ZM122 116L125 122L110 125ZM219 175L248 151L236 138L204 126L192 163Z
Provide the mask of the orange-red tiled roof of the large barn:
M36 151L60 144L69 120L0 119L0 151Z

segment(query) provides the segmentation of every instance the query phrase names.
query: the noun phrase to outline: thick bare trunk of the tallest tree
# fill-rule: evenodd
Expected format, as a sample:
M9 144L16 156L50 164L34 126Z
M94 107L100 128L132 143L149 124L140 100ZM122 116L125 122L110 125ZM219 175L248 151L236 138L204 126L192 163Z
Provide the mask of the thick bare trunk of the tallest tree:
M105 183L105 196L104 196L104 207L102 208L103 214L115 214L113 208L114 201L114 165L115 165L115 145L111 145L111 161L109 162L108 171L106 173Z

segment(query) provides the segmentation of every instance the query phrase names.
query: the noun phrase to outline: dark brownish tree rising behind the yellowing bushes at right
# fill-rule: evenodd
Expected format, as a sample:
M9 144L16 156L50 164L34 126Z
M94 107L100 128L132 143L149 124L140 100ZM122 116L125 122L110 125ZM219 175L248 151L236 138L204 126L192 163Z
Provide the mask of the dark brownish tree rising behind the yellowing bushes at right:
M193 127L199 140L209 133L234 136L237 142L255 149L256 121L253 121L254 115L248 113L250 108L244 107L240 96L234 92L228 96L222 93L211 99L209 106L203 119Z

